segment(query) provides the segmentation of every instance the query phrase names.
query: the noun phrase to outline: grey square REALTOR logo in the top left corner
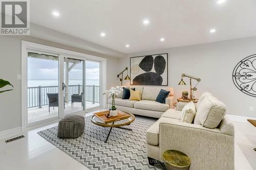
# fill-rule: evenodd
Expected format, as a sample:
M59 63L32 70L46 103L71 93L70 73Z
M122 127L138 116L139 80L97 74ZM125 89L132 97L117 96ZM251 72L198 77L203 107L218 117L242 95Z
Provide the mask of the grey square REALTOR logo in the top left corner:
M1 1L1 35L29 35L29 0Z

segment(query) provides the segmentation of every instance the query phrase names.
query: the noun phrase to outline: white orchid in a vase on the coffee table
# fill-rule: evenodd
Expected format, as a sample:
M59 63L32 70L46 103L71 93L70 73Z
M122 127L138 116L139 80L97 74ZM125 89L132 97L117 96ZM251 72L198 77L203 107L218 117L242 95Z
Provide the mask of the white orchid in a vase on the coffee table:
M110 90L106 90L103 95L108 95L109 98L112 98L112 107L111 107L111 111L110 111L110 116L117 116L118 112L116 111L116 107L115 107L115 98L117 96L120 96L123 92L123 88L116 86L116 87L111 87Z

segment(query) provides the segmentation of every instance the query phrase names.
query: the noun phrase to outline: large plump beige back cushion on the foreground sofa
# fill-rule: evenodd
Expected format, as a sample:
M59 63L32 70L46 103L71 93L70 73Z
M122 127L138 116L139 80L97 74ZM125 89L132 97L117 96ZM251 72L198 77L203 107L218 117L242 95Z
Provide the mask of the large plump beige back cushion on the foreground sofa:
M201 125L214 129L218 127L226 113L226 106L214 96L206 96L198 107Z

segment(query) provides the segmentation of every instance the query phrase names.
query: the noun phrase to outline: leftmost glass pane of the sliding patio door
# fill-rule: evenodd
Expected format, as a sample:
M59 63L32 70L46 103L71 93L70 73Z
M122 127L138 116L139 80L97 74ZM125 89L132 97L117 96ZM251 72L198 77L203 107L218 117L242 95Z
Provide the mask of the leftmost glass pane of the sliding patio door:
M28 124L59 117L58 56L28 53Z

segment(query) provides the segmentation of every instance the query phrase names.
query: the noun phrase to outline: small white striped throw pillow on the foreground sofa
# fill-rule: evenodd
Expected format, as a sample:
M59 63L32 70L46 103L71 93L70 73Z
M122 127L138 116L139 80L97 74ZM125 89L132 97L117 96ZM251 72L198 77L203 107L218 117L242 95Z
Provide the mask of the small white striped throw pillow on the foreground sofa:
M181 110L181 122L191 124L196 114L196 106L193 102L186 104Z

